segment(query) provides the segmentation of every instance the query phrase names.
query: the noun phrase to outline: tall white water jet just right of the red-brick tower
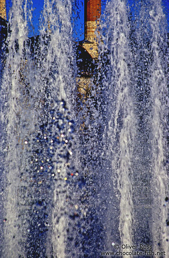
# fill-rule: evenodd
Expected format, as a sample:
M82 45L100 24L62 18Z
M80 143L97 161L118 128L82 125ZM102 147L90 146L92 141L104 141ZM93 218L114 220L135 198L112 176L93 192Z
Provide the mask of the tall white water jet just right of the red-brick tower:
M132 103L132 86L129 74L130 52L128 47L129 27L127 26L127 11L124 1L110 1L106 8L107 23L103 25L103 40L106 44L102 47L103 55L107 53L111 69L107 69L106 77L102 80L108 91L109 98L107 113L107 137L109 148L107 150L111 164L110 187L116 188L119 199L119 236L121 243L132 244L132 189L131 159L133 142L135 138L135 116ZM102 60L101 60L102 62ZM109 79L107 79L109 77ZM109 85L108 85L109 83ZM109 204L109 209L113 213ZM118 203L118 202L117 202ZM115 219L111 215L108 220L109 227ZM109 230L108 230L108 234ZM111 246L115 236L113 233L108 238L107 248Z

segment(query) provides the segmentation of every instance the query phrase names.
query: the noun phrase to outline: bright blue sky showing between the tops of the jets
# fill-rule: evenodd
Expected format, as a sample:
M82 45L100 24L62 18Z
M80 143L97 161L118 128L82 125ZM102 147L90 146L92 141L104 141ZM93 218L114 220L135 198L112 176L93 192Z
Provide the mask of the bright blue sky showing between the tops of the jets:
M32 0L33 1L33 8L35 8L33 12L33 25L35 27L35 34L38 34L38 28L39 28L39 18L41 15L41 11L43 10L44 0ZM83 10L83 2L84 0L75 0L76 2L76 21L75 21L75 29L76 32L74 32L74 38L77 38L77 40L83 40L84 39L84 10ZM129 0L130 3L133 2L133 0ZM166 14L168 18L168 24L169 24L169 0L163 0L164 6L166 8ZM6 0L6 11L8 13L9 8L11 7L12 0ZM104 10L106 4L106 0L102 0L102 10ZM8 19L8 18L7 18ZM32 33L31 33L32 34Z

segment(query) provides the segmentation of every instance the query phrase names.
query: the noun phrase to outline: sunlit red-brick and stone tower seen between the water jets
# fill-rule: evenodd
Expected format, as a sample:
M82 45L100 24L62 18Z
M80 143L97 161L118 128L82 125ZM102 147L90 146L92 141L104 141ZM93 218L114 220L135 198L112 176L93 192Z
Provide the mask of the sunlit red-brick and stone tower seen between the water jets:
M101 0L84 0L84 40L77 48L77 65L79 74L77 86L80 97L86 99L92 83L94 67L98 59L99 19Z

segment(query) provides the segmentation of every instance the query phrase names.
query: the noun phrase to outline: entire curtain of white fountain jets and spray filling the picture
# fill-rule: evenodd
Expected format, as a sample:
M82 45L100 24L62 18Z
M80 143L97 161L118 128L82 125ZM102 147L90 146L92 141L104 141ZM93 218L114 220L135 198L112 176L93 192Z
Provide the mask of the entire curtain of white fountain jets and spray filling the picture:
M76 86L72 4L45 0L40 35L32 38L30 2L13 0L10 10L0 86L0 257L119 250L135 257L124 254L126 244L169 254L161 1L136 1L133 16L125 0L107 3L86 96Z

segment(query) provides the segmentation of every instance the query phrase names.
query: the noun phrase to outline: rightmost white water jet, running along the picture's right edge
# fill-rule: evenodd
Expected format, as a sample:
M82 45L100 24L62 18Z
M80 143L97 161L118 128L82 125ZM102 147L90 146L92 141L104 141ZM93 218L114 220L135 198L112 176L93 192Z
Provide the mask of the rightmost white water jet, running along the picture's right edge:
M167 48L164 42L163 34L165 31L165 17L160 4L152 1L153 8L150 10L150 26L152 29L152 51L153 63L150 70L151 85L151 127L152 127L152 190L153 194L153 244L156 249L164 249L169 254L169 245L167 239L169 230L166 230L166 224L169 219L169 207L164 205L166 195L169 194L169 180L167 163L167 133L169 132L168 108L169 108L169 88L167 87L166 76L166 55L162 50ZM162 34L163 33L163 34ZM157 223L157 220L160 223ZM158 245L158 247L157 247Z

